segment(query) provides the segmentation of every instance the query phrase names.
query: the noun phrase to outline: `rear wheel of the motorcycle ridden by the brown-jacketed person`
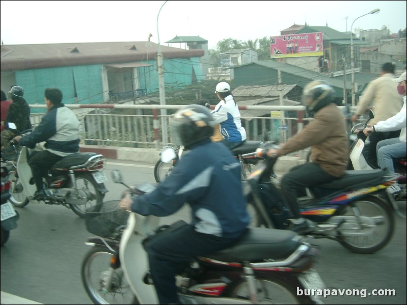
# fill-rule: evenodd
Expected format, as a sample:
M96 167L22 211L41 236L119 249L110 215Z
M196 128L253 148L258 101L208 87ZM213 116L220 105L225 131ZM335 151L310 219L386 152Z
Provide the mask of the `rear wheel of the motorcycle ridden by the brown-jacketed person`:
M364 237L340 237L340 243L347 249L355 253L369 254L374 253L390 241L394 231L394 215L385 202L376 196L368 196L354 202L354 208L351 205L345 206L340 215L373 217L376 227L373 228L369 236ZM363 223L357 230L364 230ZM365 228L370 230L370 228Z

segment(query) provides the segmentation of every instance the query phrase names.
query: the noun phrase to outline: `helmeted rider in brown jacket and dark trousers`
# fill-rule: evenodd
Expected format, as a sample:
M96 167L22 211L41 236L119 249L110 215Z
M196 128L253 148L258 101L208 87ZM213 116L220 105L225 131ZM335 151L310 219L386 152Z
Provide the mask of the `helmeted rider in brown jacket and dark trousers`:
M334 104L335 89L325 81L312 81L302 92L302 103L314 120L267 156L284 156L311 146L311 161L292 168L281 180L281 190L291 209L289 230L310 233L314 223L301 217L297 190L341 177L349 159L349 140L341 110Z

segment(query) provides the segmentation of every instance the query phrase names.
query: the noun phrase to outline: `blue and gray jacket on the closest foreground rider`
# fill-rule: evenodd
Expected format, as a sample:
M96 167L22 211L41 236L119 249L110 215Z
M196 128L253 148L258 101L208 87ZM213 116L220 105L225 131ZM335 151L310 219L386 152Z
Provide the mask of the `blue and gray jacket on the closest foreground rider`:
M168 216L185 203L195 230L225 238L242 235L249 224L240 163L221 143L193 146L171 175L149 194L136 197L131 209L142 215Z

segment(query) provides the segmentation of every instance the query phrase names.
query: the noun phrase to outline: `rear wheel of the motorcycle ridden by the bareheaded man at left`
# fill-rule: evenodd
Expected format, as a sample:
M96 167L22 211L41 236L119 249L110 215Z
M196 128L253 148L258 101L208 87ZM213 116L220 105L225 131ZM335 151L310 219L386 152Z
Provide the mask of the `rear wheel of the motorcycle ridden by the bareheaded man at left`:
M78 216L85 218L86 212L98 212L105 194L97 189L97 182L91 175L79 174L76 176L76 186L86 192L88 201L85 204L70 204L72 211ZM72 183L68 187L74 187Z

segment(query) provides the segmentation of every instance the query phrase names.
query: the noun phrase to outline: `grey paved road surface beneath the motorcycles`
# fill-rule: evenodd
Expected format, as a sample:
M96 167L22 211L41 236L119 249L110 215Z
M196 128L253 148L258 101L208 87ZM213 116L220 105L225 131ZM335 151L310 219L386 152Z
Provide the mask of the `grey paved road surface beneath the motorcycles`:
M153 164L109 160L106 169L120 169L128 184L154 183ZM106 200L117 199L123 186L107 182ZM404 202L399 202L406 213ZM11 294L2 303L13 303L13 295L44 304L91 304L80 278L81 262L90 234L84 219L61 206L28 204L18 209L21 218L1 248L1 290ZM188 209L165 217L162 223L188 218ZM395 289L396 296L330 296L326 304L405 304L406 220L395 218L391 242L375 254L349 252L339 243L315 240L321 246L316 269L329 289ZM7 296L9 296L7 294ZM15 303L23 303L21 299Z

